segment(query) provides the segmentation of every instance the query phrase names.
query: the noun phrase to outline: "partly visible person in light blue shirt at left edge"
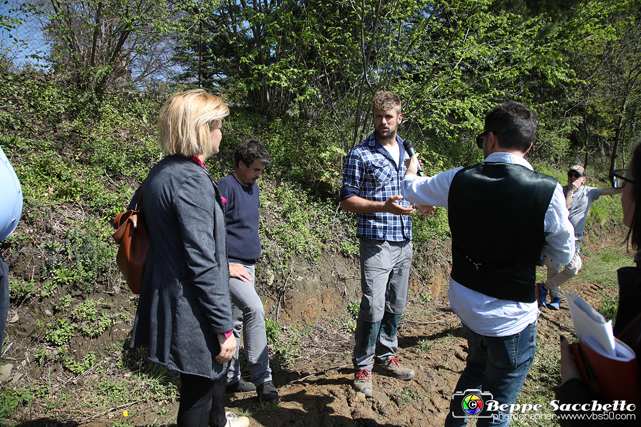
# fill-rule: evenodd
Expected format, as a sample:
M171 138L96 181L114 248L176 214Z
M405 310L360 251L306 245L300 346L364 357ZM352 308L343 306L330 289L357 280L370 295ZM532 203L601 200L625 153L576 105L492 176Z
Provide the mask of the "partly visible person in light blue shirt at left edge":
M13 233L22 213L22 187L11 163L0 147L0 240ZM4 250L8 245L3 244ZM9 267L0 251L0 356L4 338L4 324L9 314Z

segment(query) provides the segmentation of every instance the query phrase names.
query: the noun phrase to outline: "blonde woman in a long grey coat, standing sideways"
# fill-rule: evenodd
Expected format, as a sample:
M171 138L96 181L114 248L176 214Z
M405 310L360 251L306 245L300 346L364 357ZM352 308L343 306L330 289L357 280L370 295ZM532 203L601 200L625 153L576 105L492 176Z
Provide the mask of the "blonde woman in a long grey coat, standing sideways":
M218 153L228 114L202 89L169 97L158 121L167 156L149 172L142 197L149 256L131 347L148 345L149 360L180 373L178 427L249 426L224 409L236 340L223 201L204 167Z

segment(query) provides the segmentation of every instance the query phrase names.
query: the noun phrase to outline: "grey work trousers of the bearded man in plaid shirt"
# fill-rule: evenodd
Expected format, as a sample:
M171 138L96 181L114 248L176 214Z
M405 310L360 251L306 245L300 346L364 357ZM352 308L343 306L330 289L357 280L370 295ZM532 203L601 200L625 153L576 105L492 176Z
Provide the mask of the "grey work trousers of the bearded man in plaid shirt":
M361 299L354 339L354 369L371 371L398 349L396 336L405 309L412 264L412 241L360 238Z

